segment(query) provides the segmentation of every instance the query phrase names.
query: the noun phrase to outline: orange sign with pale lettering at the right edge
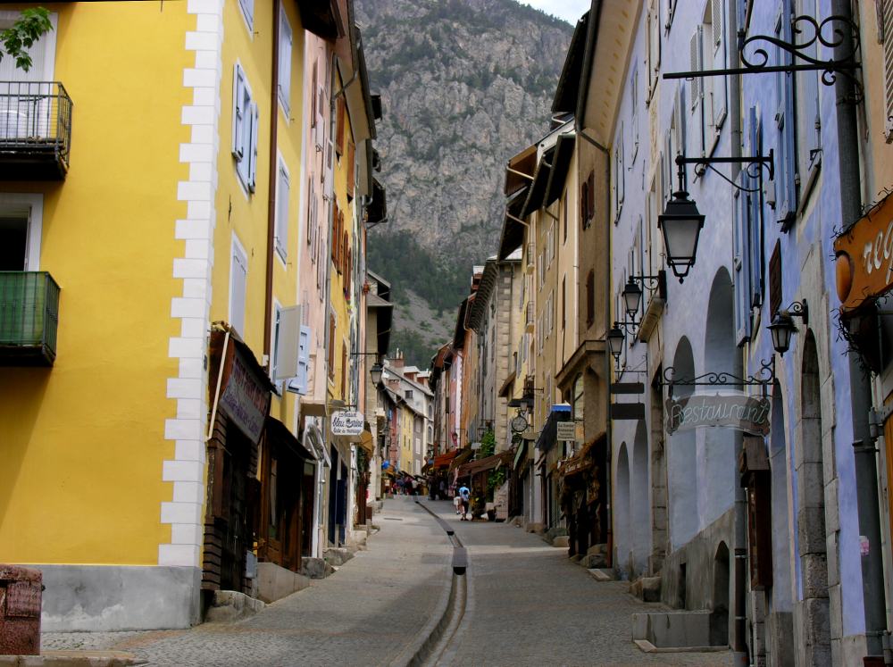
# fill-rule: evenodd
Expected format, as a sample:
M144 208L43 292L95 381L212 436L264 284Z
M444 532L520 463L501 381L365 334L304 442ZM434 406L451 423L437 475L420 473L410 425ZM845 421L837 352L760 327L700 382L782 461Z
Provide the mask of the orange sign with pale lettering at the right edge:
M841 310L853 311L893 288L893 196L834 241Z

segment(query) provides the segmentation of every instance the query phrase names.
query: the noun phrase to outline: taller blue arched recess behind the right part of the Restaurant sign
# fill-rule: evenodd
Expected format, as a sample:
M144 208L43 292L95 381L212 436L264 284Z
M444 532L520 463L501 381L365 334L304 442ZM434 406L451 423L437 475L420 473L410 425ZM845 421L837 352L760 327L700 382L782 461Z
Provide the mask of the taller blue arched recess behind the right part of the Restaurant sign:
M741 354L735 345L735 303L729 272L716 271L707 303L704 334L704 369L740 377ZM698 479L703 481L698 505L700 528L710 525L735 503L738 487L736 444L740 435L732 429L699 429Z

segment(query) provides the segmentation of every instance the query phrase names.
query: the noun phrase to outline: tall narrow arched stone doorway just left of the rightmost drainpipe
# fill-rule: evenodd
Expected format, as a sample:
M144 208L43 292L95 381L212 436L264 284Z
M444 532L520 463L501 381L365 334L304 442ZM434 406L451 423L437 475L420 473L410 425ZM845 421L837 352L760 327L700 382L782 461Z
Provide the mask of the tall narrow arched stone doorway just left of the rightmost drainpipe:
M822 396L819 357L812 330L806 332L800 380L797 438L797 557L801 619L807 664L830 664L825 484L822 459Z

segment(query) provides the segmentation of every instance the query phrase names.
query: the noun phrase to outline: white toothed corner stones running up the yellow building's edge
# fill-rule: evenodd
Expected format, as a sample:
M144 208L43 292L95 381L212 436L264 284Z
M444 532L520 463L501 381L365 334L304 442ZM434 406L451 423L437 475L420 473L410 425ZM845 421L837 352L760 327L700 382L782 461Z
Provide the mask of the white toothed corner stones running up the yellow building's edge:
M178 160L188 164L189 172L188 180L177 184L176 193L179 201L186 202L187 214L174 224L174 238L185 243L179 244L183 255L172 263L173 278L182 280L183 287L180 295L171 296L171 319L179 321L179 326L168 339L168 355L179 363L178 374L167 379L165 388L165 396L176 401L176 413L165 415L164 420L164 439L175 446L173 458L162 466L162 481L171 483L171 497L159 508L160 522L171 525L171 541L158 545L158 564L197 567L204 541L205 355L221 152L223 0L188 0L187 13L196 16L196 31L184 35L186 50L195 54L195 67L183 70L183 87L192 95L183 104L180 119L190 129L190 139L179 145Z

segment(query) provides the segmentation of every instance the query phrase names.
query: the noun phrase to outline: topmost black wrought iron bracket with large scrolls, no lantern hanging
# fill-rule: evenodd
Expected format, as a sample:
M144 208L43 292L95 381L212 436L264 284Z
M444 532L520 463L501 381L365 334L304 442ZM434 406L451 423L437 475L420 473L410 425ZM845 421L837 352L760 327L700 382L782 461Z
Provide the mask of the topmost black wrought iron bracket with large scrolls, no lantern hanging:
M739 74L763 74L767 72L796 71L821 71L822 83L825 86L833 86L837 82L839 74L847 77L855 87L854 102L862 99L862 84L855 77L855 71L862 69L862 63L856 60L855 54L859 50L859 28L855 21L851 21L840 15L832 15L822 21L813 16L801 15L791 19L791 29L794 41L787 42L771 35L754 35L745 38L745 32L739 30L739 54L741 67L730 67L722 70L699 71L672 71L663 74L663 79L703 79L705 77L727 77ZM848 35L847 35L848 33ZM801 41L797 41L801 38ZM851 39L852 50L843 54L840 58L821 60L816 55L809 54L809 49L824 46L836 49L844 46L847 38ZM745 54L747 46L755 45L753 53ZM762 45L762 46L756 46ZM790 64L770 65L769 51L772 46L778 48L784 54L788 54Z

